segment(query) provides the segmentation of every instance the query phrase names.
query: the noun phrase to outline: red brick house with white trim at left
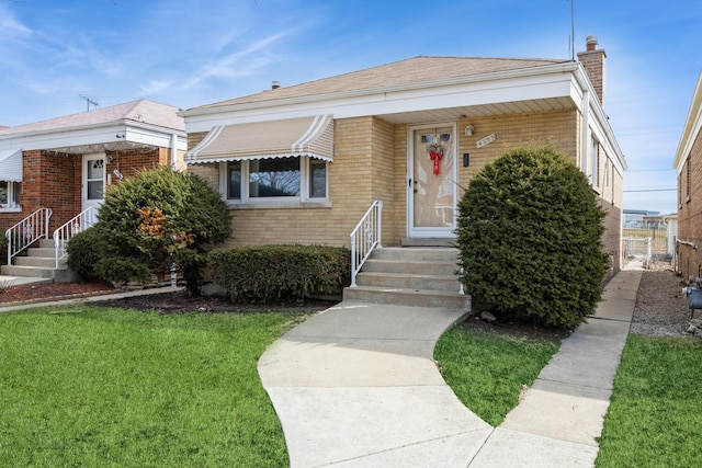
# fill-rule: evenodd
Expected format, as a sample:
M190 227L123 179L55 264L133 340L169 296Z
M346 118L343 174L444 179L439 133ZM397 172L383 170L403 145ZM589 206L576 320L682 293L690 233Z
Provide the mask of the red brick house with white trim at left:
M0 129L0 232L39 208L49 232L88 207L106 185L157 164L182 167L178 109L147 100Z

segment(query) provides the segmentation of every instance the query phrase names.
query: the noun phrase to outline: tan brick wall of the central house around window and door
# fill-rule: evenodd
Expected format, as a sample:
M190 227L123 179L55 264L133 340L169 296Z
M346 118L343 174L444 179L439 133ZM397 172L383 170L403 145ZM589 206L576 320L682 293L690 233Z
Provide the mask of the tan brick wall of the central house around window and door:
M475 127L472 137L464 134L468 124ZM487 162L517 146L550 145L569 155L576 163L578 125L575 110L462 118L457 132L461 187L465 189ZM372 116L335 121L335 161L328 167L331 207L233 208L234 238L228 244L304 242L349 246L349 235L371 202L382 199L383 244L398 246L406 237L407 132L407 125L394 125ZM492 133L497 135L496 141L480 149L475 147L476 140ZM189 135L189 148L197 145L205 135ZM462 164L465 152L471 153L467 168ZM204 178L218 191L218 164L191 164L189 171ZM609 201L608 204L612 206ZM621 218L621 206L615 204L610 210L608 226L614 226ZM619 230L609 229L612 239L619 239ZM608 239L608 249L619 251L613 242Z

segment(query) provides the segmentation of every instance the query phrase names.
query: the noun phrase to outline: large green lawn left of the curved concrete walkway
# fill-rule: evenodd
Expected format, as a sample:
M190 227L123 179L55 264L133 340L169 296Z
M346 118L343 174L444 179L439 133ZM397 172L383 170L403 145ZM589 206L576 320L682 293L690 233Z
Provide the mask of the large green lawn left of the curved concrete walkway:
M282 467L257 361L301 316L0 315L0 466Z

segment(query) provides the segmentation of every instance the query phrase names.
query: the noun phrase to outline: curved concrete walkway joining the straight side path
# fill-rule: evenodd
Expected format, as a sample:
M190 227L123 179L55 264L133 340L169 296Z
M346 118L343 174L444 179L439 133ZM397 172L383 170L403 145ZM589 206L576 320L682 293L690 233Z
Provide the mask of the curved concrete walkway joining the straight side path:
M499 427L468 411L433 362L464 312L343 301L261 356L292 467L591 467L641 281L607 286Z

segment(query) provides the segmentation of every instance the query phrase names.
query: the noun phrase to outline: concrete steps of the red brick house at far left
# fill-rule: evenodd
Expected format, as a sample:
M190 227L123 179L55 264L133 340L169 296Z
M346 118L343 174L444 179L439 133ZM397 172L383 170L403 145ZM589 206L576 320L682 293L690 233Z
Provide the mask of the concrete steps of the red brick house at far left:
M59 255L63 252L59 252ZM12 259L12 265L2 265L0 272L9 276L24 276L46 278L47 282L69 283L71 274L64 260L56 267L56 251L54 240L41 240L38 247L31 247L26 255L16 255Z

